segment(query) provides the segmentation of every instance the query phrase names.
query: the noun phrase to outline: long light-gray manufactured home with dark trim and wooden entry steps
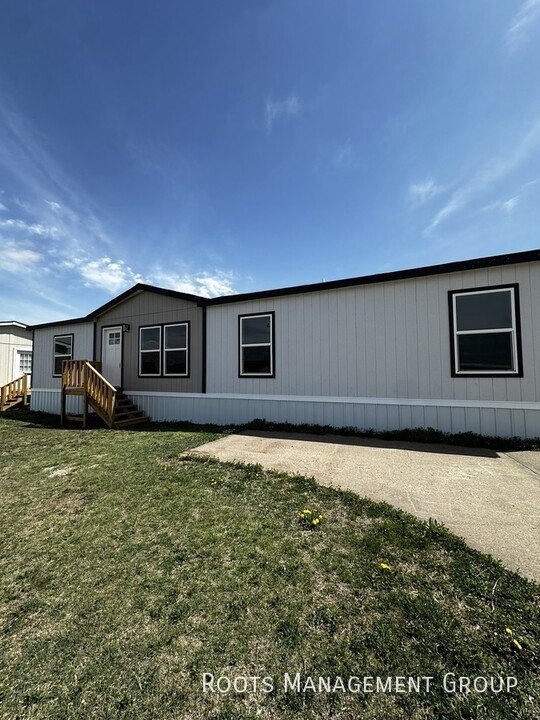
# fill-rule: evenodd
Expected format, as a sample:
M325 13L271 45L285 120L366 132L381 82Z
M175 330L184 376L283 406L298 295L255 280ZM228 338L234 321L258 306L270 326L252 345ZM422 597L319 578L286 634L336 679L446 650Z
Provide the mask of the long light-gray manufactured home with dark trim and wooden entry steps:
M538 437L539 308L540 250L212 299L138 284L34 327L31 408Z

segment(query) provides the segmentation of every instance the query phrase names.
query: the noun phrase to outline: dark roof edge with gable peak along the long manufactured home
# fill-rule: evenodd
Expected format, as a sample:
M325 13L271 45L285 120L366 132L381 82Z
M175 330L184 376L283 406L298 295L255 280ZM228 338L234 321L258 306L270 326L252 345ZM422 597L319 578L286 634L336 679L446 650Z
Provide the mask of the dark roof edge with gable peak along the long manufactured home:
M223 305L226 303L243 302L245 300L260 300L264 298L283 297L287 295L300 295L302 293L319 292L321 290L336 290L340 288L357 287L360 285L373 285L375 283L392 282L396 280L410 280L413 278L429 277L430 275L444 275L446 273L463 272L465 270L481 270L490 267L500 267L502 265L515 265L519 263L538 261L540 261L540 249L525 250L523 252L508 253L505 255L492 255L488 257L474 258L472 260L460 260L458 262L443 263L440 265L428 265L426 267L411 268L409 270L395 270L387 273L377 273L375 275L345 278L343 280L331 280L329 282L311 283L309 285L293 285L292 287L277 288L275 290L261 290L237 295L224 295L215 298L204 298L199 295L190 295L189 293L167 290L166 288L155 287L154 285L137 283L129 290L126 290L121 295L109 300L109 302L101 305L85 317L74 318L71 320L60 320L58 322L51 323L42 323L40 325L28 326L28 328L36 330L39 328L92 322L111 308L143 291L167 295L169 297L176 297L181 300L188 300L189 302L193 302L202 307L207 305Z

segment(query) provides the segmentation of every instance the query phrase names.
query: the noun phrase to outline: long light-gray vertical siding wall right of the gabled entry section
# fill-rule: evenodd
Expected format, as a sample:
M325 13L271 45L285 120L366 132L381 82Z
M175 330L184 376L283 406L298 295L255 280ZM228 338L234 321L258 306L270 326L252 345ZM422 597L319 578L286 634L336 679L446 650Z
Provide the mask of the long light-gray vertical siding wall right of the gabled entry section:
M524 377L451 377L449 290L513 282L519 283ZM535 298L540 263L211 305L207 391L538 402ZM238 316L269 311L276 377L239 378Z

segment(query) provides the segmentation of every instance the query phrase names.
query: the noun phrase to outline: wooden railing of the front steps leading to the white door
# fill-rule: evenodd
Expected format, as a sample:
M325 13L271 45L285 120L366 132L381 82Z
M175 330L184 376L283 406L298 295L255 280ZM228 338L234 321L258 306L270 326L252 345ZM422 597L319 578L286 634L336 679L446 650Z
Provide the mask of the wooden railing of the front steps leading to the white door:
M98 370L100 363L91 360L65 360L62 366L62 422L66 417L66 395L83 396L83 423L86 427L88 405L109 426L113 426L116 388Z

